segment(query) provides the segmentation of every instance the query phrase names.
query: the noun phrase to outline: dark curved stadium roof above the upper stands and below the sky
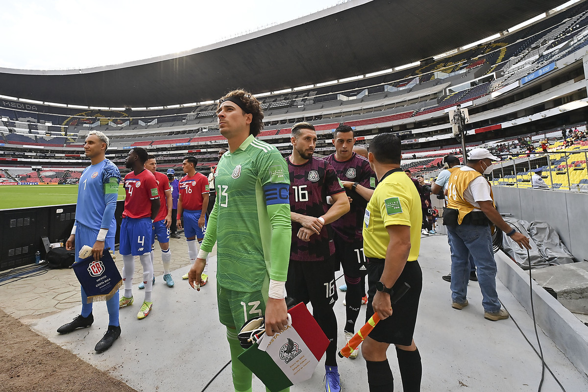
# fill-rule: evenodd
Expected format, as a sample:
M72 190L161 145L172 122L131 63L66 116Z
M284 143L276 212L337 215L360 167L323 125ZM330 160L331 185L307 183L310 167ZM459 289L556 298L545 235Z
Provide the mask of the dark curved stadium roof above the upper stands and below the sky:
M562 1L354 0L158 58L66 71L1 68L0 94L139 108L218 99L239 87L280 91L383 71L451 51L505 31Z

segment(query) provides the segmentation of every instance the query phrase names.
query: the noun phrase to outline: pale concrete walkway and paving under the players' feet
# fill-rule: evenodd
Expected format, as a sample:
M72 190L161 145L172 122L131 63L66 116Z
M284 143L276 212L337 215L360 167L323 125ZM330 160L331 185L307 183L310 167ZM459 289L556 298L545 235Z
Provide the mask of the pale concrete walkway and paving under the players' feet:
M201 391L217 373L206 391L231 391L230 365L221 371L229 361L229 350L216 307L216 258L211 257L210 282L201 292L196 292L181 279L189 269L183 237L172 240L171 249L176 286L169 289L163 283L161 256L156 252L152 313L144 320L136 319L143 294L133 286L138 300L133 306L121 309L121 338L105 353L93 351L108 323L103 303L94 306L95 321L91 328L64 336L56 333L56 329L73 319L80 309L78 283L71 270L54 270L1 286L2 309L138 391ZM121 265L121 259L118 260ZM541 361L522 334L536 346L533 322L509 290L497 282L500 300L512 319L488 321L483 318L482 296L477 282L469 284L467 299L470 306L461 311L450 306L449 284L441 279L449 272L450 264L445 236L423 238L419 263L423 270L423 292L415 341L423 359L422 390L536 391ZM136 264L139 270L138 260ZM336 276L340 274L336 273ZM133 283L138 283L141 280L139 273L135 276ZM340 278L337 286L342 281ZM341 327L339 346L342 347L345 342L342 333L345 307L342 304L344 293L339 294L335 311ZM364 312L360 313L358 327ZM566 390L588 390L588 376L580 373L541 330L539 337L547 366ZM395 358L395 350L390 349L390 364L399 391L402 388ZM355 360L339 360L343 390L368 391L365 369L361 355ZM292 391L324 390L324 375L320 364L310 380L292 387ZM256 378L253 385L256 391L264 390ZM558 390L556 381L546 371L543 391Z

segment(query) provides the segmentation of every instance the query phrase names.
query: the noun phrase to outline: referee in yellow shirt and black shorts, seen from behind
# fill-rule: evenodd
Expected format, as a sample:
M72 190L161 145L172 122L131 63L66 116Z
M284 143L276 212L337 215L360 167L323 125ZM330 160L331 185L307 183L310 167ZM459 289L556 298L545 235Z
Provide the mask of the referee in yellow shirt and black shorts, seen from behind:
M382 133L372 139L368 159L379 183L363 220L363 253L368 257L368 309L380 321L362 343L370 392L393 391L394 378L386 358L390 344L396 356L405 392L419 391L422 365L413 340L423 276L420 270L420 196L400 169L400 139ZM390 296L403 283L410 289L396 302Z

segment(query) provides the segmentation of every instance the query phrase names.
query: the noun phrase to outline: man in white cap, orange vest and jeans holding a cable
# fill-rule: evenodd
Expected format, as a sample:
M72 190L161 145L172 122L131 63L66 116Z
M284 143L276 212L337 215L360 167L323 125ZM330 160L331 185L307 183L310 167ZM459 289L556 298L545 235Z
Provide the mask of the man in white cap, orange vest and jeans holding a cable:
M496 261L489 223L494 223L521 248L530 249L529 239L510 227L496 210L490 183L483 176L492 170L493 161L498 160L484 148L470 151L467 165L456 169L449 178L448 209L443 214L451 247L452 307L462 310L468 304L468 258L472 255L477 266L484 317L492 321L507 319L509 313L500 309L496 293Z

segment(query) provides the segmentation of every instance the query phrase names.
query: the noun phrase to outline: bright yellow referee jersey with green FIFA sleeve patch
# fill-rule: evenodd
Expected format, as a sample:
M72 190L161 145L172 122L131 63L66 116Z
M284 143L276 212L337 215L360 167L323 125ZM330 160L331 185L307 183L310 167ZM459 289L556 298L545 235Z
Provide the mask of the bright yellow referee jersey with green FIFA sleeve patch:
M402 170L384 176L376 186L363 218L363 254L376 259L386 258L390 237L387 226L410 227L408 261L419 257L420 228L423 211L415 184Z

